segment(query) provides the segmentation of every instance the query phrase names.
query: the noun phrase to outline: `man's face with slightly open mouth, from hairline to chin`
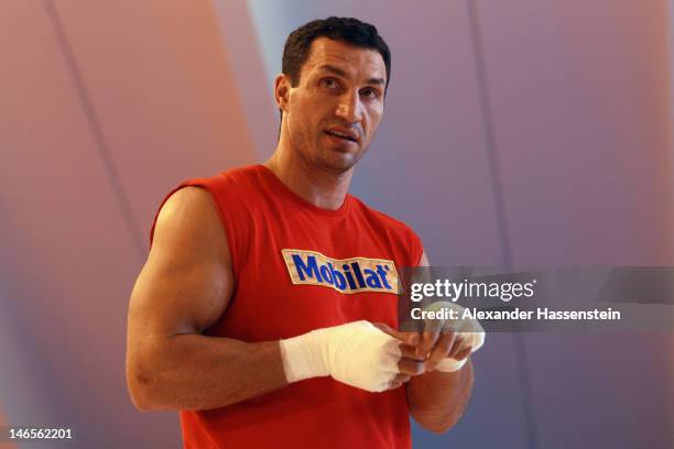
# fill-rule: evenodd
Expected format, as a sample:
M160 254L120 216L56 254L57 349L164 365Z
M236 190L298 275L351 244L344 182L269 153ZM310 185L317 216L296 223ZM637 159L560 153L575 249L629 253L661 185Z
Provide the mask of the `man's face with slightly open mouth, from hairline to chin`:
M341 174L365 154L383 114L387 69L379 52L318 37L287 83L284 131L300 157Z

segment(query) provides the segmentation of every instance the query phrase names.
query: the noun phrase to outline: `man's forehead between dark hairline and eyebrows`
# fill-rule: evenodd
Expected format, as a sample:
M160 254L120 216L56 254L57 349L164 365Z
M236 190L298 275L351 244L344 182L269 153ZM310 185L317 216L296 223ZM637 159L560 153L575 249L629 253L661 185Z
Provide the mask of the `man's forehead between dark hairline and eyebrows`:
M338 67L354 78L387 78L381 54L373 48L361 48L341 41L318 37L312 42L302 72L320 70L324 65Z

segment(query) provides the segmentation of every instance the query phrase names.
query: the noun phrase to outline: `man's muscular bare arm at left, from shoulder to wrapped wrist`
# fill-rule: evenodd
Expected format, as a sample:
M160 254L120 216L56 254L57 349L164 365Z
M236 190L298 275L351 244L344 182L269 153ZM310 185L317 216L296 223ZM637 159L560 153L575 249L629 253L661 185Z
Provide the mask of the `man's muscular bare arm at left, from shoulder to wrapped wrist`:
M209 409L286 385L278 341L203 335L232 291L215 201L198 187L176 191L157 218L129 306L127 383L139 409Z

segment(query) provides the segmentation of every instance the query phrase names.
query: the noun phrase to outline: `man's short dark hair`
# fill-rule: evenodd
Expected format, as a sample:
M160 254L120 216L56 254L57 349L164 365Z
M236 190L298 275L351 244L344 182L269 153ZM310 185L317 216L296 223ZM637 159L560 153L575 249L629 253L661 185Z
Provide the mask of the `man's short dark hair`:
M391 81L391 51L374 25L354 18L330 17L314 20L300 26L287 36L283 47L281 72L290 77L293 87L300 83L302 65L308 57L312 43L318 37L328 37L357 47L378 51L387 67L385 94Z

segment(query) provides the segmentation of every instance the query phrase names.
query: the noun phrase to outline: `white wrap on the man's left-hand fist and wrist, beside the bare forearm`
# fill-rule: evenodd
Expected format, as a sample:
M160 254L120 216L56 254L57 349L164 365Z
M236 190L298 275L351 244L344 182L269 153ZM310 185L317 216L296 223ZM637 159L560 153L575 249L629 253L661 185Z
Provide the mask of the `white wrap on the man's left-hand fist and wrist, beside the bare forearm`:
M280 346L287 382L330 375L368 392L389 388L401 359L399 341L369 321L313 330Z

